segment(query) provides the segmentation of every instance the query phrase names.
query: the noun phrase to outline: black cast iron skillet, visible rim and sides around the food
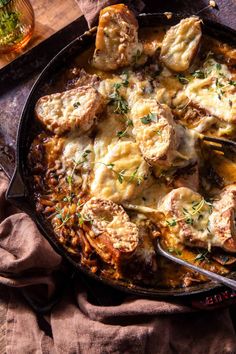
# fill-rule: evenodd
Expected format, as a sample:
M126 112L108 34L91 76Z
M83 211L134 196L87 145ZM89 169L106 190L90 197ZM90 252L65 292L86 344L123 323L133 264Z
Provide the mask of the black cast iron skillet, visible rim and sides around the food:
M141 14L138 17L138 21L140 27L173 25L179 22L183 17L186 17L186 15L183 16L175 14L168 20L164 14ZM234 46L236 45L236 31L233 31L223 25L209 20L204 20L203 31L212 37L216 37L222 42L226 42ZM88 268L79 263L78 258L76 259L63 248L54 236L51 225L35 210L35 204L31 195L32 192L30 192L31 189L29 182L29 171L27 169L27 155L30 144L37 131L37 123L34 119L34 107L36 101L41 96L51 93L50 84L52 83L52 80L55 79L56 75L60 73L62 69L68 67L73 58L94 44L95 35L96 28L93 28L90 31L85 32L81 37L78 37L72 41L61 52L59 52L54 59L51 60L34 84L23 109L18 127L16 168L6 193L6 197L10 202L16 204L20 209L30 215L30 217L38 225L44 237L46 237L55 250L65 257L75 267L75 269L82 271L98 281L111 285L116 289L149 298L195 295L215 289L216 287L219 287L219 285L213 282L198 284L187 288L153 289L129 285L123 281L106 279L100 275L93 274ZM236 272L231 273L230 277L236 278Z

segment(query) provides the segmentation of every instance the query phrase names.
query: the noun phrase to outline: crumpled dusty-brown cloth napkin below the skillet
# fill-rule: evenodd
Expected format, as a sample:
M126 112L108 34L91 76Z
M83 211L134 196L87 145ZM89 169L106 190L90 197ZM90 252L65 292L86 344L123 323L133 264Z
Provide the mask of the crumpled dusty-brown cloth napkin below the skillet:
M96 285L88 287L80 274L71 277L34 222L9 209L7 185L0 172L0 283L5 286L0 290L10 293L4 352L236 353L228 309L199 312L177 302L133 296L113 305L111 299L109 306L95 304L91 295ZM45 308L58 289L63 292L50 312L32 309L35 300ZM104 299L107 292L105 288Z

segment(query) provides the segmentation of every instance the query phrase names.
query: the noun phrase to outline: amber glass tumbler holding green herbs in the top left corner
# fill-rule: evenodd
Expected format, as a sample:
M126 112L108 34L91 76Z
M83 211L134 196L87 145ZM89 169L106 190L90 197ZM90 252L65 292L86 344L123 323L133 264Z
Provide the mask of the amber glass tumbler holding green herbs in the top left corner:
M0 0L0 54L22 49L34 30L29 0Z

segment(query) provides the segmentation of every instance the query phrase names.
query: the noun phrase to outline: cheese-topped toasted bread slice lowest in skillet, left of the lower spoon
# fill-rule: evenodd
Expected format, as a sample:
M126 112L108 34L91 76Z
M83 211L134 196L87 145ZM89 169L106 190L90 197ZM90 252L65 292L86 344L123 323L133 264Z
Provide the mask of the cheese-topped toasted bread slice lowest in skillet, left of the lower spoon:
M138 228L120 205L91 198L84 205L82 216L91 221L88 240L105 262L116 264L134 253L139 244Z

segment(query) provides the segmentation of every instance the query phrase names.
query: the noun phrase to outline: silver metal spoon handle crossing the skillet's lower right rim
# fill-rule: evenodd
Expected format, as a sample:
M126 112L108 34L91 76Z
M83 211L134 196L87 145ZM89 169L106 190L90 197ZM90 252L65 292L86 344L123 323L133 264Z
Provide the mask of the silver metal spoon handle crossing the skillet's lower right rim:
M170 254L168 251L164 250L164 248L161 246L161 243L159 240L157 240L157 251L158 253L163 256L166 257L168 259L170 259L171 261L178 263L182 266L188 267L192 270L195 270L198 273L201 273L203 275L205 275L207 278L216 281L217 283L221 283L233 290L236 290L236 280L230 279L230 278L226 278L222 275L216 274L211 272L210 270L206 270L203 268L200 268L198 266L195 266L187 261L184 261L183 259L180 259L178 257L173 256L172 254Z

